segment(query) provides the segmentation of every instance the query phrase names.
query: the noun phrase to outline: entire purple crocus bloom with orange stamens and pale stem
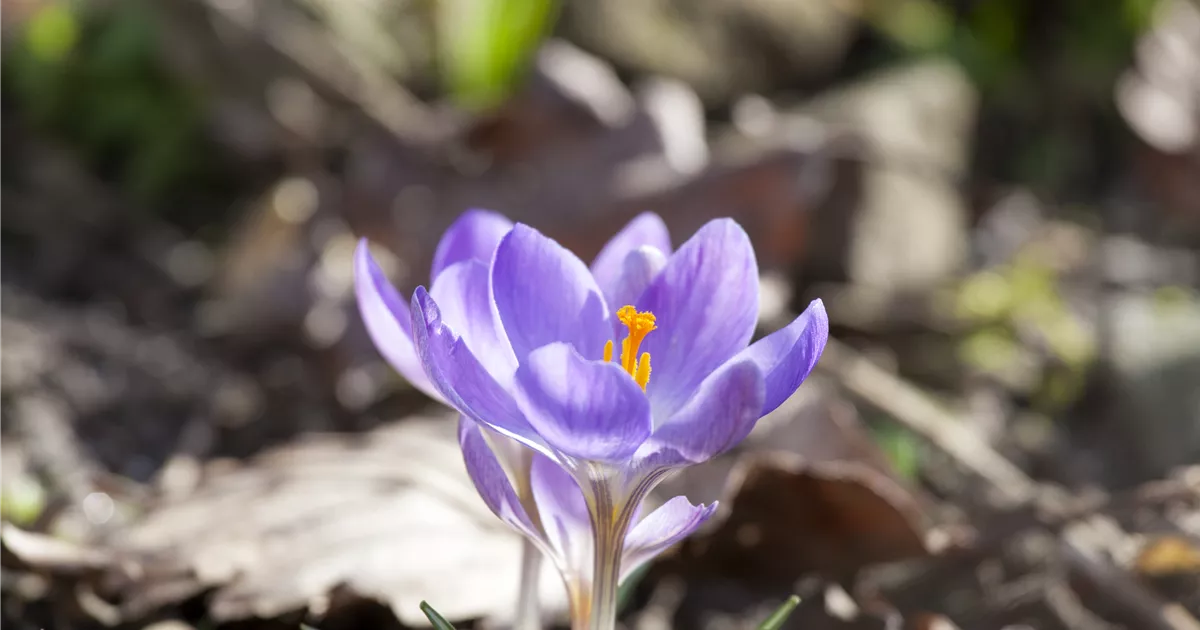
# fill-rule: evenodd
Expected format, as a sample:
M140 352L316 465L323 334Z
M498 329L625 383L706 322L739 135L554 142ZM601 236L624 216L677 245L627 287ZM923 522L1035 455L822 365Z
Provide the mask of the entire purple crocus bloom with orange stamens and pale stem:
M748 346L757 263L732 220L672 252L661 218L641 215L590 269L528 226L496 239L502 229L448 235L443 244L498 244L487 258L486 247L440 256L439 246L449 264L434 262L432 289L419 287L410 311L360 248L364 318L406 376L419 372L415 346L424 388L461 412L476 488L563 570L576 626L590 617L611 628L622 575L713 512L678 497L638 520L644 497L670 472L736 445L791 396L824 348L828 319L815 301ZM504 474L510 446L496 449L500 458L490 448L510 440L536 454L514 475L516 490Z

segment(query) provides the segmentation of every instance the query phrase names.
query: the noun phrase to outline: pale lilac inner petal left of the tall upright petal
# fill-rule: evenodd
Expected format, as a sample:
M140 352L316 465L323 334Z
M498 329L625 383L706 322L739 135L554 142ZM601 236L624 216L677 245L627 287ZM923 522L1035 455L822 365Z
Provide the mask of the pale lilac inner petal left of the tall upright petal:
M479 260L455 263L442 271L430 295L442 320L457 332L470 353L499 383L510 383L517 368L512 347L492 311L487 265Z

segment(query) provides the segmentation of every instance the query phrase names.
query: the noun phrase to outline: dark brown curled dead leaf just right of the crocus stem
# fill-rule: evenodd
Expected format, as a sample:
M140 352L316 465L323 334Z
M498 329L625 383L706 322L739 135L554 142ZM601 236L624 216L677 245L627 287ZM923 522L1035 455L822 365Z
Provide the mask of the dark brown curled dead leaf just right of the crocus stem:
M658 570L684 584L677 626L742 626L770 612L760 610L763 602L797 588L805 601L782 628L895 623L886 620L890 612L859 610L835 584L853 584L871 566L926 557L925 500L898 478L853 406L827 385L816 380L793 396L734 454L667 482L667 492L706 500L724 487L714 526ZM826 589L834 589L828 598ZM847 605L853 614L839 612Z

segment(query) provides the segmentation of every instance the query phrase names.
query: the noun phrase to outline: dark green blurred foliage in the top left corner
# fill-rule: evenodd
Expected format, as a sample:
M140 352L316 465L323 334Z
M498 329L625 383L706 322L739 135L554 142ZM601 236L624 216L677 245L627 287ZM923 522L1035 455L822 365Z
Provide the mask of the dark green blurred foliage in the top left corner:
M0 62L30 124L77 148L143 203L204 174L200 102L157 64L149 8L49 2Z

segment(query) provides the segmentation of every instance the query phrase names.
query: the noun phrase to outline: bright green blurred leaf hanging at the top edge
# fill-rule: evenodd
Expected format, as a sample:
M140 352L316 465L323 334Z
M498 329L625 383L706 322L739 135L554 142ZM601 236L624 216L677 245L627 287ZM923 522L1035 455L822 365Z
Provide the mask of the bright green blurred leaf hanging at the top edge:
M502 102L523 77L558 14L556 0L440 0L442 74L460 104Z

